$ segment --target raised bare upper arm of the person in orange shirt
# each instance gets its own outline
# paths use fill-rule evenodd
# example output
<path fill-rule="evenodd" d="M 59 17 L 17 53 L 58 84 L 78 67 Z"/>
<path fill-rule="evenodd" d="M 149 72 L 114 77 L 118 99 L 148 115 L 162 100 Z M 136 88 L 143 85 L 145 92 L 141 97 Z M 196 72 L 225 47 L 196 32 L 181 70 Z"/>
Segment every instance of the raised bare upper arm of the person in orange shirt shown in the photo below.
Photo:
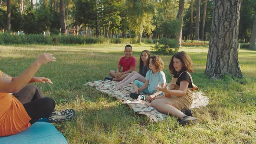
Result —
<path fill-rule="evenodd" d="M 56 61 L 56 59 L 52 54 L 43 54 L 39 56 L 25 72 L 15 79 L 11 80 L 3 76 L 0 77 L 0 92 L 19 92 L 30 82 L 41 65 L 54 61 Z"/>

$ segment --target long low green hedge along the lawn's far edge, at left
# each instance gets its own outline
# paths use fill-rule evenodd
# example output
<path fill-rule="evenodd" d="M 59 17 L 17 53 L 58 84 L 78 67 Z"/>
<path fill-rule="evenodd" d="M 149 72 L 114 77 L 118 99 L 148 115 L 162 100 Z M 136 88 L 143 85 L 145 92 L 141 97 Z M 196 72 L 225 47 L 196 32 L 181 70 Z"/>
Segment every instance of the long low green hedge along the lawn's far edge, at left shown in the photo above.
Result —
<path fill-rule="evenodd" d="M 83 36 L 83 35 L 59 35 L 58 29 L 52 29 L 52 35 L 26 34 L 11 35 L 0 33 L 0 44 L 53 44 L 53 38 L 56 38 L 59 44 L 95 44 L 95 43 L 120 43 L 135 44 L 136 38 L 105 38 L 103 36 Z M 141 39 L 142 43 L 153 43 L 152 39 Z M 168 42 L 172 43 L 172 42 Z M 173 47 L 173 45 L 171 45 Z"/>

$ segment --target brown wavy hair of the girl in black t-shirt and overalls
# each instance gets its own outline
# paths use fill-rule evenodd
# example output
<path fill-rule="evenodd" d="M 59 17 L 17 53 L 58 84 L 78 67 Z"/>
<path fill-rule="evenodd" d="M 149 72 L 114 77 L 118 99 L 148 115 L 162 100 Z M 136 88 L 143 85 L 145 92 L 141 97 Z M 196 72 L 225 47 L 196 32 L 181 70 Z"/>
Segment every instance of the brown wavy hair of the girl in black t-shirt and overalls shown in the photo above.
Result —
<path fill-rule="evenodd" d="M 183 64 L 183 68 L 179 72 L 176 72 L 176 70 L 174 69 L 174 66 L 173 66 L 173 59 L 174 58 L 180 59 L 182 64 Z M 192 62 L 190 56 L 188 56 L 186 52 L 181 51 L 181 52 L 175 53 L 172 56 L 171 62 L 169 64 L 169 69 L 170 69 L 171 75 L 178 75 L 178 74 L 181 74 L 181 72 L 184 72 L 184 71 L 193 73 L 194 70 L 193 70 L 192 66 L 193 66 L 193 62 Z"/>

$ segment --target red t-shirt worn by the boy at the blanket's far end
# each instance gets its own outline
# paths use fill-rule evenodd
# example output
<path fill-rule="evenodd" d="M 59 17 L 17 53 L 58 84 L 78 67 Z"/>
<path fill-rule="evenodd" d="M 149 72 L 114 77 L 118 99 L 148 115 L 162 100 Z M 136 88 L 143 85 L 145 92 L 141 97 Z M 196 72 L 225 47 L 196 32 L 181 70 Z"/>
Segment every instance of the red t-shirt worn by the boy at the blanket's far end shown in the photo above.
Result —
<path fill-rule="evenodd" d="M 123 71 L 128 71 L 129 69 L 131 69 L 131 67 L 134 67 L 134 71 L 135 71 L 135 67 L 136 67 L 136 59 L 131 56 L 129 59 L 125 59 L 124 57 L 121 57 L 121 59 L 119 60 L 118 65 L 121 65 L 123 67 Z"/>

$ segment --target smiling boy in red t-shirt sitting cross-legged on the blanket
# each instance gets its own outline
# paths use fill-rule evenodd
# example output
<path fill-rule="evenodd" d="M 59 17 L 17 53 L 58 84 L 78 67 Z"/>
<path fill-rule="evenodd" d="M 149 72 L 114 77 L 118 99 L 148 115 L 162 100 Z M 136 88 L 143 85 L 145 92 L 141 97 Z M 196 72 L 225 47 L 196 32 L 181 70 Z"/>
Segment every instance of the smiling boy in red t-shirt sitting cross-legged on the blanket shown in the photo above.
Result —
<path fill-rule="evenodd" d="M 118 67 L 116 71 L 111 70 L 109 75 L 112 77 L 105 77 L 104 80 L 113 80 L 113 81 L 121 81 L 125 79 L 127 75 L 129 75 L 132 71 L 135 71 L 136 67 L 136 59 L 131 56 L 132 55 L 132 47 L 131 45 L 125 46 L 125 56 L 121 57 L 118 63 Z M 121 67 L 123 70 L 121 71 Z"/>

